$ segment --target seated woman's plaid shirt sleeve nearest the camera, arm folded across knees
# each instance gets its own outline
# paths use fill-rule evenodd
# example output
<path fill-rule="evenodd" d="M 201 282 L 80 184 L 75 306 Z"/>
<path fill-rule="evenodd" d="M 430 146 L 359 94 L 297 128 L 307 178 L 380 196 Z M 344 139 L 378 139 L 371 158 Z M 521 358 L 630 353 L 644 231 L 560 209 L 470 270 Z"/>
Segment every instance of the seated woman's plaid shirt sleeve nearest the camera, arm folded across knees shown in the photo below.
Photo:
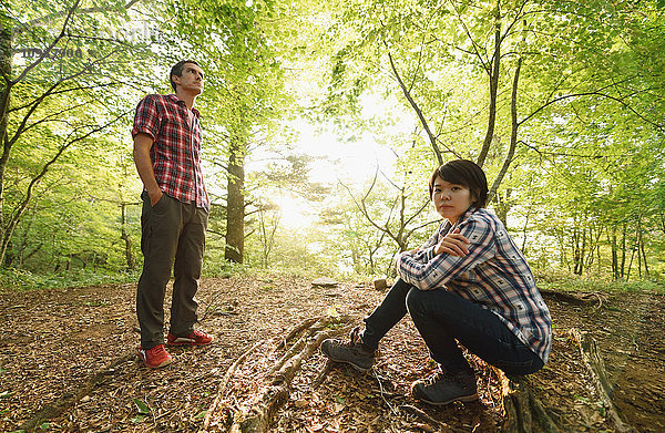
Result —
<path fill-rule="evenodd" d="M 400 278 L 420 290 L 438 289 L 460 274 L 494 257 L 494 230 L 485 220 L 470 219 L 458 227 L 460 234 L 471 243 L 468 255 L 434 255 L 436 246 L 423 249 L 418 260 L 410 254 L 401 254 L 396 260 Z"/>

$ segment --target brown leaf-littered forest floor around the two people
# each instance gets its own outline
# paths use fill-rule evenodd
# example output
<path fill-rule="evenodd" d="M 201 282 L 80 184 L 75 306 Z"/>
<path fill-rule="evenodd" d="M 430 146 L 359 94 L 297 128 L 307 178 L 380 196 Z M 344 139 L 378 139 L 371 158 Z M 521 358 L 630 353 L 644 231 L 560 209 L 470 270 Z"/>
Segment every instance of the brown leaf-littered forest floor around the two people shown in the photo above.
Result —
<path fill-rule="evenodd" d="M 295 326 L 326 315 L 351 315 L 360 323 L 383 293 L 369 283 L 313 287 L 310 280 L 289 277 L 205 279 L 200 327 L 216 339 L 205 348 L 171 349 L 175 362 L 160 370 L 146 369 L 136 357 L 134 296 L 135 285 L 0 292 L 0 431 L 20 430 L 32 420 L 37 431 L 49 432 L 196 432 L 242 354 L 246 358 L 217 409 L 245 404 L 243 399 L 256 392 L 255 375 L 265 369 L 269 348 Z M 585 303 L 545 298 L 553 350 L 529 383 L 566 431 L 613 431 L 571 330 L 589 332 L 598 342 L 624 421 L 640 432 L 665 431 L 665 298 L 647 292 L 593 297 L 596 301 Z M 482 361 L 470 360 L 479 402 L 432 408 L 413 400 L 410 383 L 434 365 L 407 318 L 382 340 L 369 374 L 335 368 L 311 386 L 325 367 L 315 352 L 272 431 L 499 431 L 504 417 L 500 381 Z M 219 426 L 222 415 L 215 416 L 211 425 Z"/>

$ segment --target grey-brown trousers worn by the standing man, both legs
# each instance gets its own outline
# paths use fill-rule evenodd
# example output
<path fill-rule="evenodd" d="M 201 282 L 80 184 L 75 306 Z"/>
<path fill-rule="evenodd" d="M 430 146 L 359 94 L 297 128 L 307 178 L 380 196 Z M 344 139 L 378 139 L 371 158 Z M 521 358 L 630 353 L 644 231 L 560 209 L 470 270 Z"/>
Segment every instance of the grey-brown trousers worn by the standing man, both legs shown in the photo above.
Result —
<path fill-rule="evenodd" d="M 143 192 L 141 198 L 144 261 L 136 291 L 136 316 L 141 326 L 141 347 L 151 349 L 164 342 L 164 296 L 171 269 L 174 269 L 171 332 L 185 337 L 194 329 L 198 307 L 194 296 L 203 266 L 207 210 L 166 194 L 154 207 L 147 193 Z"/>

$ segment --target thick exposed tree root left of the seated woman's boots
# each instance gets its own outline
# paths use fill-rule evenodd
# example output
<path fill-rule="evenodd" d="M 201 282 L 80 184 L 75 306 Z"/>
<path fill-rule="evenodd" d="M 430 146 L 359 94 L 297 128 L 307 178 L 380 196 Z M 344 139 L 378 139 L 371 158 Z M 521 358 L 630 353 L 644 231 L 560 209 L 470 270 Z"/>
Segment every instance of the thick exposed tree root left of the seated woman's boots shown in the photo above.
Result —
<path fill-rule="evenodd" d="M 228 413 L 222 414 L 222 417 L 228 421 L 223 422 L 223 424 L 227 426 L 227 432 L 267 432 L 274 414 L 286 403 L 286 401 L 288 401 L 291 381 L 300 371 L 303 363 L 314 354 L 325 339 L 348 332 L 350 329 L 349 323 L 354 318 L 350 316 L 340 318 L 321 317 L 307 319 L 296 326 L 287 334 L 287 338 L 280 340 L 275 350 L 286 349 L 289 340 L 293 340 L 298 336 L 299 338 L 268 370 L 268 374 L 264 379 L 265 384 L 252 399 L 249 408 L 244 410 L 232 410 L 228 405 L 224 406 L 222 404 L 222 400 L 226 393 L 226 384 L 233 377 L 237 367 L 244 362 L 245 358 L 247 358 L 252 351 L 263 344 L 264 341 L 255 344 L 250 351 L 245 352 L 238 358 L 226 372 L 225 379 L 215 398 L 215 402 L 208 410 L 204 425 L 200 432 L 208 432 L 212 420 L 215 417 L 219 419 L 219 412 L 225 411 L 232 412 L 231 416 Z M 318 386 L 325 379 L 327 371 L 329 371 L 329 369 L 324 369 L 324 371 L 313 381 L 311 385 Z"/>

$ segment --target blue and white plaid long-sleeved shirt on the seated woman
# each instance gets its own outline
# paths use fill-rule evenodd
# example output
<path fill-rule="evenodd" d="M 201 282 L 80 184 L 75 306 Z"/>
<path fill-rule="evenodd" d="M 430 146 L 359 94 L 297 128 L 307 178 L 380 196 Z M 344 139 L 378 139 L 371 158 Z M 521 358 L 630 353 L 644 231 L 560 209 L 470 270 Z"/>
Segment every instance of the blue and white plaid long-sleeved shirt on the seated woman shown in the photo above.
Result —
<path fill-rule="evenodd" d="M 434 255 L 439 240 L 454 227 L 471 241 L 469 254 Z M 492 311 L 548 362 L 552 348 L 550 310 L 526 259 L 494 214 L 469 208 L 454 226 L 444 221 L 420 249 L 397 257 L 397 274 L 420 290 L 450 290 Z"/>

